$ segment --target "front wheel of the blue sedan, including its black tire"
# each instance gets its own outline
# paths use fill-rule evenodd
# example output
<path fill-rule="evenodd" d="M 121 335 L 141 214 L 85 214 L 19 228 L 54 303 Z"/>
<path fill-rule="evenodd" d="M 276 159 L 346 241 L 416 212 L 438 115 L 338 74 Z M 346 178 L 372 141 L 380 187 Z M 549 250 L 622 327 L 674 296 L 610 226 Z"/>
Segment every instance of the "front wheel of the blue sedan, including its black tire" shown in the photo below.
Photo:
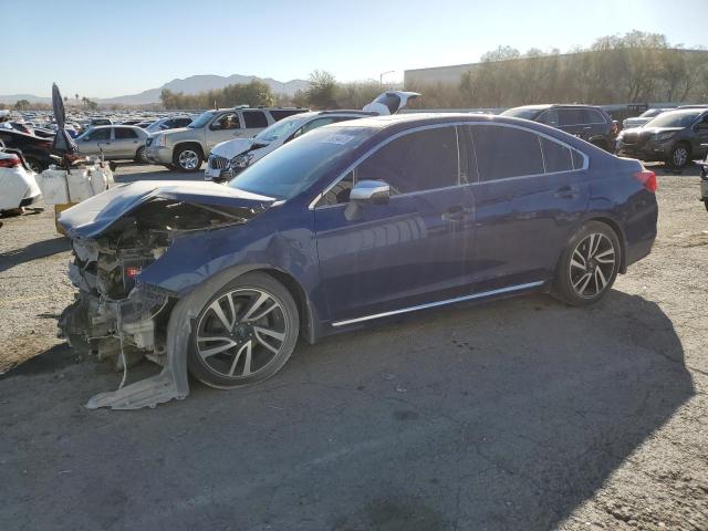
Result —
<path fill-rule="evenodd" d="M 261 296 L 267 298 L 258 305 Z M 274 309 L 268 310 L 271 303 Z M 300 315 L 288 289 L 269 274 L 246 273 L 219 289 L 192 322 L 187 366 L 210 387 L 252 385 L 283 367 L 299 333 Z"/>

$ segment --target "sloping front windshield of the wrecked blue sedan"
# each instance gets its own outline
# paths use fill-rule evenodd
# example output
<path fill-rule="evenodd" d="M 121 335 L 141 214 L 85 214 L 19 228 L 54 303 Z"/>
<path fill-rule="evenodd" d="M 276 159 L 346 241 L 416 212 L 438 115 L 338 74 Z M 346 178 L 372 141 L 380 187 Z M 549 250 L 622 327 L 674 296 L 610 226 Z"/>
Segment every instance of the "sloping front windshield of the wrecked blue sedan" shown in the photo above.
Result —
<path fill-rule="evenodd" d="M 263 157 L 229 183 L 231 188 L 290 199 L 321 178 L 378 129 L 324 126 Z"/>

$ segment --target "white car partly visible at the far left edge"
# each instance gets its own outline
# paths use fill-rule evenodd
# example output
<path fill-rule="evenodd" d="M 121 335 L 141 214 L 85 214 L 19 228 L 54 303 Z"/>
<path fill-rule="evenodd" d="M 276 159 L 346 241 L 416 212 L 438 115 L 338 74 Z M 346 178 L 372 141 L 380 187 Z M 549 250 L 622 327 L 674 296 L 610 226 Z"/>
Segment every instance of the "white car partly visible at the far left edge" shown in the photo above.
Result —
<path fill-rule="evenodd" d="M 29 207 L 41 197 L 34 173 L 22 153 L 7 150 L 0 143 L 0 212 Z"/>

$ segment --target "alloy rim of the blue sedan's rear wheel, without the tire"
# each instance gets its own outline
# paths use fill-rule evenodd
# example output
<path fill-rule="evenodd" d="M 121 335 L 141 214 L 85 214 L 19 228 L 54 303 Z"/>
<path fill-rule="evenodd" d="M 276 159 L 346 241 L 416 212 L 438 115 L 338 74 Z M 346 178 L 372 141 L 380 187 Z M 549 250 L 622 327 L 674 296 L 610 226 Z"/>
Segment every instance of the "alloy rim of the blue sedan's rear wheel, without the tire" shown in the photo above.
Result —
<path fill-rule="evenodd" d="M 612 279 L 616 264 L 614 244 L 605 235 L 593 232 L 583 238 L 571 256 L 570 281 L 583 299 L 600 295 Z"/>

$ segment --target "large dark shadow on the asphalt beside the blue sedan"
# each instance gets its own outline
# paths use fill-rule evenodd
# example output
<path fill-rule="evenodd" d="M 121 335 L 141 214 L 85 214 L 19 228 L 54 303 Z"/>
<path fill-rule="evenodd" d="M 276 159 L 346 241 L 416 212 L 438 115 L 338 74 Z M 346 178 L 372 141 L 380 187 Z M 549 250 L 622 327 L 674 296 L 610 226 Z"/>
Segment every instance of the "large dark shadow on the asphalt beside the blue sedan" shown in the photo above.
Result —
<path fill-rule="evenodd" d="M 420 312 L 157 410 L 76 413 L 118 376 L 48 354 L 66 374 L 51 393 L 46 373 L 0 382 L 7 436 L 43 464 L 6 483 L 0 524 L 4 503 L 34 529 L 554 529 L 694 395 L 671 321 L 620 291 Z"/>

